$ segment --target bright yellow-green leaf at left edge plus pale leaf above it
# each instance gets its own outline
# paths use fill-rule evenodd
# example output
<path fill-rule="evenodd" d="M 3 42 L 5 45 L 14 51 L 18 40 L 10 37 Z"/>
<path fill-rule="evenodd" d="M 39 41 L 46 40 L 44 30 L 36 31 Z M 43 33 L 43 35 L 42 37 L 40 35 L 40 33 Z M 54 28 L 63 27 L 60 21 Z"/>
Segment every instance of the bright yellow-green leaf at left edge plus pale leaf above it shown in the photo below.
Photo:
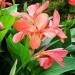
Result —
<path fill-rule="evenodd" d="M 0 35 L 1 35 L 0 42 L 3 40 L 6 33 L 11 28 L 11 26 L 13 25 L 13 23 L 15 21 L 16 17 L 10 15 L 10 13 L 14 12 L 14 11 L 17 11 L 17 5 L 0 10 L 0 22 L 2 22 L 2 24 L 4 25 L 4 30 L 0 31 Z"/>

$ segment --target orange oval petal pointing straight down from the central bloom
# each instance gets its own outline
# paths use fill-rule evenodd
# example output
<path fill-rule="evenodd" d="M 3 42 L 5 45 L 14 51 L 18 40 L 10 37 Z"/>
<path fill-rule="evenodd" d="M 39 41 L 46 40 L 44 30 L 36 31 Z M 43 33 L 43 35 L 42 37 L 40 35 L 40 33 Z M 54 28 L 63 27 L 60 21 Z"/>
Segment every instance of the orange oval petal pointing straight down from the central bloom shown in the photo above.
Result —
<path fill-rule="evenodd" d="M 30 38 L 30 47 L 34 50 L 37 49 L 41 44 L 41 40 L 37 34 L 33 34 Z"/>

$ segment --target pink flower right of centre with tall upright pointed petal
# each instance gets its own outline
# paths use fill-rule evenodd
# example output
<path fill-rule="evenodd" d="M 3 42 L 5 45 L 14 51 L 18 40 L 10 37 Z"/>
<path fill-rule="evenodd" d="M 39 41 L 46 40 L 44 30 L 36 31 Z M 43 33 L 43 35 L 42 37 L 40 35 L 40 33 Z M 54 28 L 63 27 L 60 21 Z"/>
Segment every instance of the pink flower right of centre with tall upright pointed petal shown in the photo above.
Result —
<path fill-rule="evenodd" d="M 67 36 L 59 27 L 60 27 L 60 15 L 58 11 L 55 10 L 53 14 L 53 20 L 50 20 L 49 28 L 45 30 L 46 32 L 44 32 L 44 35 L 49 37 L 58 36 L 61 42 L 64 43 L 64 39 L 67 38 Z"/>

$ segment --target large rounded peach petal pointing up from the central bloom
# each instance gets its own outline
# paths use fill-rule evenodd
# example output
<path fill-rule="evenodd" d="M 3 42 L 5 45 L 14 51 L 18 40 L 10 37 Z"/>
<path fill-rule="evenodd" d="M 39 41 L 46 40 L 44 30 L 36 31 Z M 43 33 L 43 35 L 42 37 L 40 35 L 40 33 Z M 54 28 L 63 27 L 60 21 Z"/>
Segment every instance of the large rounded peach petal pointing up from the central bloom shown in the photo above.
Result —
<path fill-rule="evenodd" d="M 48 21 L 49 21 L 49 16 L 45 13 L 42 13 L 36 17 L 35 25 L 39 30 L 44 29 L 47 26 Z"/>

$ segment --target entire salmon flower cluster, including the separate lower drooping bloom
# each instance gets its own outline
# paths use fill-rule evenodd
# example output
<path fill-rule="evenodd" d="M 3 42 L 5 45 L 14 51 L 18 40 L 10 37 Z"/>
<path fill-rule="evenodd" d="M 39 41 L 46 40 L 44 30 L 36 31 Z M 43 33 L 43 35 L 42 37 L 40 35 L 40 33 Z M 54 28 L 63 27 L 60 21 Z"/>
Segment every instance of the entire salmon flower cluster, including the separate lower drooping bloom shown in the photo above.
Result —
<path fill-rule="evenodd" d="M 12 13 L 12 15 L 20 17 L 20 19 L 14 23 L 14 28 L 19 31 L 13 37 L 14 43 L 21 41 L 25 35 L 29 37 L 30 47 L 33 51 L 39 48 L 41 41 L 46 40 L 47 38 L 58 36 L 61 42 L 64 43 L 64 39 L 67 38 L 67 36 L 60 27 L 60 15 L 58 11 L 54 11 L 52 20 L 49 19 L 49 15 L 47 13 L 42 13 L 48 5 L 49 1 L 46 1 L 41 6 L 39 3 L 36 3 L 28 7 L 28 13 Z M 52 65 L 53 59 L 63 66 L 62 57 L 66 55 L 66 50 L 56 48 L 47 51 L 42 50 L 35 54 L 34 58 L 39 60 L 41 67 L 47 69 Z"/>

